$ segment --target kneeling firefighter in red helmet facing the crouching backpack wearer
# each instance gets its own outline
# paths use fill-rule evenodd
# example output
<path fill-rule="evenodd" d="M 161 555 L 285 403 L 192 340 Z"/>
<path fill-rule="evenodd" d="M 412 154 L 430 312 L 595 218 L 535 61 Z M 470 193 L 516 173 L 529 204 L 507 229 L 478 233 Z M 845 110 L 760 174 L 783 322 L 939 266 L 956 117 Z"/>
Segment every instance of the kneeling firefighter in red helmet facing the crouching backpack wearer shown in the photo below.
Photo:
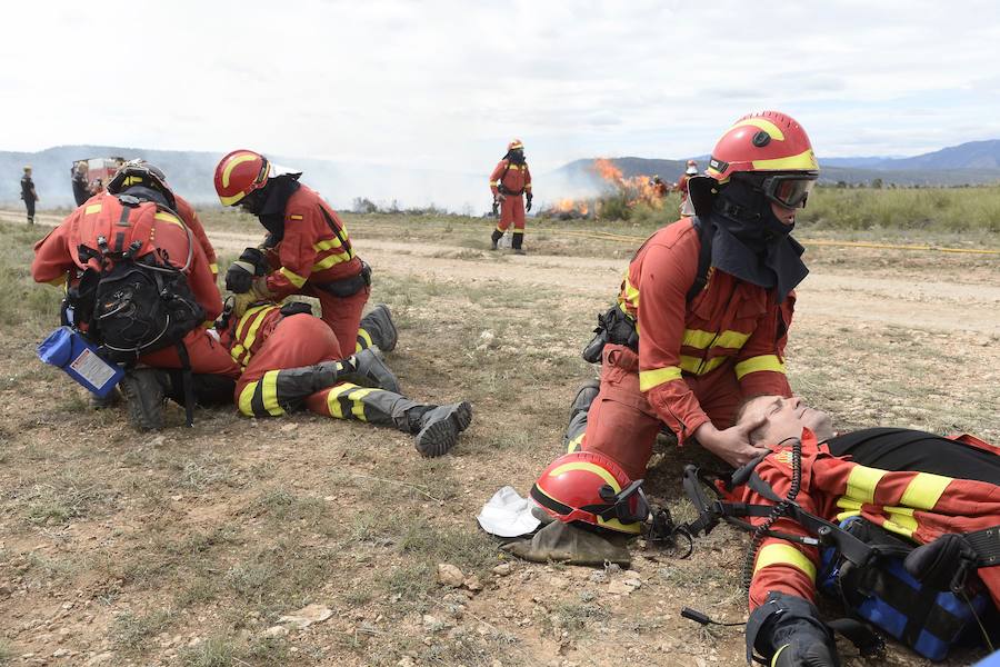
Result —
<path fill-rule="evenodd" d="M 340 348 L 350 350 L 371 292 L 371 269 L 338 215 L 299 182 L 301 176 L 251 150 L 219 161 L 214 182 L 222 206 L 241 207 L 268 231 L 260 247 L 247 248 L 229 267 L 226 289 L 236 295 L 238 317 L 253 301 L 316 297 Z"/>

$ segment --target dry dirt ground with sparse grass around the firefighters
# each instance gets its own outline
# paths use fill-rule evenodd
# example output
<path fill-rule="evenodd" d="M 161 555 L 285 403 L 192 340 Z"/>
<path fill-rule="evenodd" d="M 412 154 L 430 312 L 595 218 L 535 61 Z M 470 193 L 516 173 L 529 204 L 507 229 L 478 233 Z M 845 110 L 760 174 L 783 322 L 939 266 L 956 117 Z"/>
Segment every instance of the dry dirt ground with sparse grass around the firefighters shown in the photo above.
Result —
<path fill-rule="evenodd" d="M 594 377 L 579 350 L 628 240 L 529 230 L 518 257 L 486 249 L 486 220 L 348 219 L 371 302 L 398 320 L 387 360 L 404 391 L 474 406 L 456 449 L 422 459 L 403 434 L 308 414 L 207 410 L 188 430 L 171 407 L 169 428 L 140 435 L 121 408 L 91 410 L 34 358 L 58 296 L 26 277 L 44 229 L 20 220 L 0 213 L 0 665 L 743 664 L 742 628 L 679 616 L 746 618 L 743 535 L 719 528 L 687 560 L 639 542 L 613 571 L 510 560 L 474 519 L 559 454 L 569 402 Z M 258 240 L 244 219 L 206 223 L 223 266 Z M 797 392 L 843 429 L 1000 441 L 1000 258 L 806 246 Z M 706 460 L 664 445 L 648 476 L 681 517 L 692 458 Z M 441 563 L 466 585 L 438 584 Z M 332 614 L 279 623 L 307 605 Z M 842 650 L 848 665 L 924 664 L 899 647 L 877 661 Z"/>

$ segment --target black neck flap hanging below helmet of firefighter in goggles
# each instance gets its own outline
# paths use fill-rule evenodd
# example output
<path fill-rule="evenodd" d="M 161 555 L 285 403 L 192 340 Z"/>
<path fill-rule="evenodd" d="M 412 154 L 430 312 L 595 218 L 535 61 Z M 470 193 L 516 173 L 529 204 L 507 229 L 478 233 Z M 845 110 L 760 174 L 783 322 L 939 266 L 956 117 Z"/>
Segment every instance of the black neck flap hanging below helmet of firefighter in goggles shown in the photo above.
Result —
<path fill-rule="evenodd" d="M 800 259 L 804 248 L 771 210 L 751 180 L 733 176 L 712 201 L 712 266 L 741 280 L 776 290 L 780 303 L 809 273 Z"/>

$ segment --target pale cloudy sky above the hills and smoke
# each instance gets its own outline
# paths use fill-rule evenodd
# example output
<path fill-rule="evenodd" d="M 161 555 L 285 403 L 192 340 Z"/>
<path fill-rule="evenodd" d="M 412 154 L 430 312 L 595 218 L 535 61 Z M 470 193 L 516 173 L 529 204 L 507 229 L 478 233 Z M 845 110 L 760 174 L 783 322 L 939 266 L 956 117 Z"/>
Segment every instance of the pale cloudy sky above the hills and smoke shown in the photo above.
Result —
<path fill-rule="evenodd" d="M 4 7 L 0 150 L 67 143 L 536 171 L 708 152 L 742 113 L 821 157 L 1000 138 L 983 1 L 61 2 Z"/>

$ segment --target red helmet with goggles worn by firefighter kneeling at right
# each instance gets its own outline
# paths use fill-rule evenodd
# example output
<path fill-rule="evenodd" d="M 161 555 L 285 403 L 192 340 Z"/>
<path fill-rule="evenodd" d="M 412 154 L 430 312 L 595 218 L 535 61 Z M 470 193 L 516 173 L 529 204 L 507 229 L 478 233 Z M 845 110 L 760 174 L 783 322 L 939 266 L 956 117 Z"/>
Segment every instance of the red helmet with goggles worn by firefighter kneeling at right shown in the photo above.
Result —
<path fill-rule="evenodd" d="M 796 119 L 761 111 L 744 116 L 722 135 L 706 172 L 722 183 L 733 173 L 764 172 L 760 187 L 768 199 L 799 208 L 819 178 L 819 162 Z"/>

